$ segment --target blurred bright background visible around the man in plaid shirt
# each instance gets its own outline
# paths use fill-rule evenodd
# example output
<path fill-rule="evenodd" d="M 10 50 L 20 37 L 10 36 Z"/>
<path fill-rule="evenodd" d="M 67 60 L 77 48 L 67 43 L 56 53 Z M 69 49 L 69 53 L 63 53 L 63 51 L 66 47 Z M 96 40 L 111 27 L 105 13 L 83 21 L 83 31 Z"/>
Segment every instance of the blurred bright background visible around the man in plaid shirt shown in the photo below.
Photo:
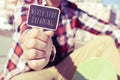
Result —
<path fill-rule="evenodd" d="M 75 2 L 79 8 L 100 18 L 106 22 L 118 25 L 120 28 L 120 0 L 70 0 Z M 0 72 L 6 62 L 6 57 L 11 47 L 13 27 L 13 10 L 15 0 L 0 0 Z M 76 44 L 80 40 L 83 44 L 94 38 L 86 31 L 78 30 L 76 32 Z M 82 43 L 80 43 L 83 45 Z M 78 47 L 78 46 L 76 46 Z"/>

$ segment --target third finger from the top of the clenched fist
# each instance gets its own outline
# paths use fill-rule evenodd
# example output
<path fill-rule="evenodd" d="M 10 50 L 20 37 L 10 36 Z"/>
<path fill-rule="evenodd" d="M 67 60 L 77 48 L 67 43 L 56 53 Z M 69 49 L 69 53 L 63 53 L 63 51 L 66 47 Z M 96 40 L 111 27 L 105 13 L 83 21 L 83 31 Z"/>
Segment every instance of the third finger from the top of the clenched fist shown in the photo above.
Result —
<path fill-rule="evenodd" d="M 45 51 L 39 51 L 36 49 L 25 50 L 22 56 L 25 60 L 33 60 L 33 59 L 42 59 L 46 58 Z"/>

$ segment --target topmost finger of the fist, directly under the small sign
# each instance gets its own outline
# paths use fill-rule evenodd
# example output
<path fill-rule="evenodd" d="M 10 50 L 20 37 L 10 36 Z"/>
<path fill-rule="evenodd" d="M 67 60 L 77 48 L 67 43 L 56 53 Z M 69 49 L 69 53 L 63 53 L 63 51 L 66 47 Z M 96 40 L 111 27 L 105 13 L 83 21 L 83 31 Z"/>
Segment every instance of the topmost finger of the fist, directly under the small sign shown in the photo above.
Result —
<path fill-rule="evenodd" d="M 29 32 L 24 32 L 21 37 L 20 37 L 20 43 L 23 43 L 25 39 L 29 40 L 30 38 L 36 38 L 39 40 L 42 40 L 44 42 L 47 42 L 49 37 L 52 37 L 54 35 L 53 31 L 45 31 L 38 29 L 38 28 L 33 28 L 30 29 Z"/>

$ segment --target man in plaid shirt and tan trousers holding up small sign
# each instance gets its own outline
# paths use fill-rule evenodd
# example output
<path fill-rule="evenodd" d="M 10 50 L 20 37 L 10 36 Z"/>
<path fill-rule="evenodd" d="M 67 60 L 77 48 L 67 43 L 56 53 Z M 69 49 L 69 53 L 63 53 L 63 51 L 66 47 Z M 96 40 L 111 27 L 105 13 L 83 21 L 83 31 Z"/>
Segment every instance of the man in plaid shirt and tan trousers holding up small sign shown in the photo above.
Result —
<path fill-rule="evenodd" d="M 26 24 L 29 6 L 33 3 L 58 7 L 61 10 L 58 29 L 55 32 L 31 28 Z M 36 80 L 70 80 L 78 64 L 96 56 L 104 57 L 110 61 L 117 70 L 117 74 L 120 75 L 120 65 L 118 64 L 120 61 L 118 52 L 120 48 L 120 36 L 118 33 L 120 33 L 120 30 L 117 26 L 89 15 L 78 9 L 74 3 L 66 0 L 18 0 L 14 16 L 16 27 L 14 37 L 17 36 L 17 39 L 14 38 L 15 44 L 13 49 L 10 50 L 8 63 L 1 75 L 1 79 L 9 80 L 13 77 L 13 80 L 18 78 L 19 80 L 20 78 L 21 80 L 32 80 L 32 78 L 36 78 Z M 90 25 L 91 20 L 95 23 L 94 25 Z M 83 29 L 95 35 L 110 35 L 115 40 L 118 49 L 114 45 L 112 38 L 105 36 L 97 38 L 77 50 L 77 52 L 73 52 L 75 45 L 69 44 L 68 41 L 75 38 L 75 29 Z M 53 45 L 56 48 L 56 56 L 53 54 L 55 53 Z M 48 66 L 52 67 L 45 68 Z M 45 69 L 40 71 L 43 68 Z M 70 70 L 69 75 L 67 74 L 68 70 Z M 29 73 L 28 71 L 36 72 Z M 24 74 L 24 72 L 28 73 Z M 15 76 L 19 73 L 21 75 Z M 48 74 L 51 74 L 51 77 Z"/>

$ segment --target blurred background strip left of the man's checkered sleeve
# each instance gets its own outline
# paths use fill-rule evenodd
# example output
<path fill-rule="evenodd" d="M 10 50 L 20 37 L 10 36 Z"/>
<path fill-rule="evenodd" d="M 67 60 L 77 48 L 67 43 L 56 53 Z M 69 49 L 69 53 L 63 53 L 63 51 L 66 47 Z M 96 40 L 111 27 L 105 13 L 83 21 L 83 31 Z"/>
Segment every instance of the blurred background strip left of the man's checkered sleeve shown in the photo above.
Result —
<path fill-rule="evenodd" d="M 11 47 L 15 0 L 0 0 L 0 72 Z"/>

